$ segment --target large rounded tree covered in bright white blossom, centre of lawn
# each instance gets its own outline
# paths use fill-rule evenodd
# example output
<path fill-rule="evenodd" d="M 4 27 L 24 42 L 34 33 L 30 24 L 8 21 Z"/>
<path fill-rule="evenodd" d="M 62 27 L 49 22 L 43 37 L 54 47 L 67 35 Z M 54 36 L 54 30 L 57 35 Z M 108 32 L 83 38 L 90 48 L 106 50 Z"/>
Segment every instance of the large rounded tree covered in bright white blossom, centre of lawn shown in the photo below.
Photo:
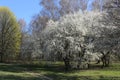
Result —
<path fill-rule="evenodd" d="M 61 58 L 66 69 L 72 67 L 74 61 L 79 68 L 86 49 L 93 48 L 94 38 L 106 27 L 102 21 L 103 13 L 99 12 L 77 12 L 56 22 L 50 20 L 41 33 L 41 50 L 47 59 Z"/>

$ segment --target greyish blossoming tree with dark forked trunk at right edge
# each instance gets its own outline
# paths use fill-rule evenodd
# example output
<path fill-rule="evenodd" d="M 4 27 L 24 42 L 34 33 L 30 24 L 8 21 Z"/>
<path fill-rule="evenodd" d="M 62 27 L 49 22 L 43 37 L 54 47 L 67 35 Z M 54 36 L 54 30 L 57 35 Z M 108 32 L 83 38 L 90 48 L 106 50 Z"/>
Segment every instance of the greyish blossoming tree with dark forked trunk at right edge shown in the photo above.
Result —
<path fill-rule="evenodd" d="M 106 26 L 102 28 L 101 36 L 95 39 L 94 48 L 103 54 L 103 66 L 109 66 L 111 54 L 120 56 L 120 0 L 106 0 L 104 10 L 108 13 L 104 17 Z"/>

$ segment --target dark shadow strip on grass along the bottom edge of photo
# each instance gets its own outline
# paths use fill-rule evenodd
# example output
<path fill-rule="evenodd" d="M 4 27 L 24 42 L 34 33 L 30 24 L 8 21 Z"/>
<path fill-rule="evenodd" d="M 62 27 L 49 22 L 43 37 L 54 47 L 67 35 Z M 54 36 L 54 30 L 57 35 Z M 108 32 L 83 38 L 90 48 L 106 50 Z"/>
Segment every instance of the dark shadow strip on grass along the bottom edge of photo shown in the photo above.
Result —
<path fill-rule="evenodd" d="M 104 77 L 100 76 L 99 78 L 90 77 L 90 76 L 65 76 L 60 74 L 46 74 L 39 77 L 20 77 L 14 75 L 0 75 L 0 80 L 120 80 L 120 77 Z"/>

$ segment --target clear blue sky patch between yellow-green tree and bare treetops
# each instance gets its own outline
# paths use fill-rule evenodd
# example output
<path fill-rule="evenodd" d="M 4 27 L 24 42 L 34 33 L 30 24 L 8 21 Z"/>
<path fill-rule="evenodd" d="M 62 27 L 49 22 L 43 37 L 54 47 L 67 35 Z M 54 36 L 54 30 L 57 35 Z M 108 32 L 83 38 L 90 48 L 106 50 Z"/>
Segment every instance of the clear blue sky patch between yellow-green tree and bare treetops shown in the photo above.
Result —
<path fill-rule="evenodd" d="M 24 19 L 28 24 L 33 15 L 39 13 L 40 0 L 0 0 L 0 6 L 7 6 L 17 19 Z"/>

